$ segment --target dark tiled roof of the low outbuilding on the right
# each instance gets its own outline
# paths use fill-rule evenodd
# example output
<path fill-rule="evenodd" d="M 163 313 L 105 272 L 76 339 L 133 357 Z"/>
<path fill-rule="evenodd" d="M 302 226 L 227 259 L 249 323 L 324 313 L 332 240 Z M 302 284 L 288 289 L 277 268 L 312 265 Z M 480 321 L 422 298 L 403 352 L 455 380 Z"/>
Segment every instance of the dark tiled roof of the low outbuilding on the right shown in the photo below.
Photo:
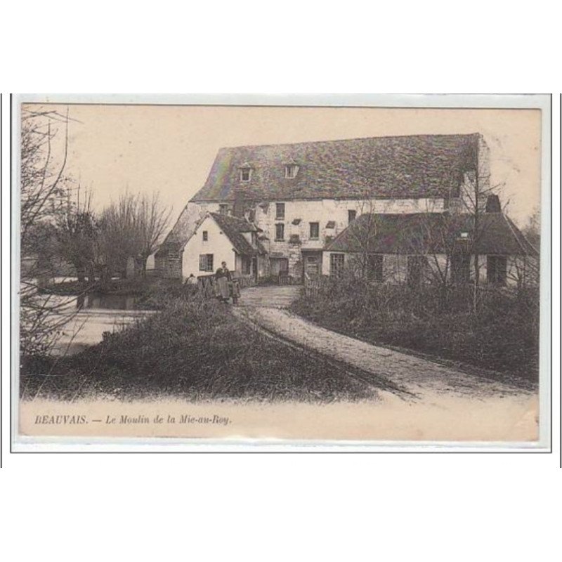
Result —
<path fill-rule="evenodd" d="M 479 254 L 538 255 L 504 214 L 481 214 L 478 221 L 475 236 L 474 217 L 469 214 L 364 214 L 325 249 L 374 254 L 473 253 L 476 249 Z"/>

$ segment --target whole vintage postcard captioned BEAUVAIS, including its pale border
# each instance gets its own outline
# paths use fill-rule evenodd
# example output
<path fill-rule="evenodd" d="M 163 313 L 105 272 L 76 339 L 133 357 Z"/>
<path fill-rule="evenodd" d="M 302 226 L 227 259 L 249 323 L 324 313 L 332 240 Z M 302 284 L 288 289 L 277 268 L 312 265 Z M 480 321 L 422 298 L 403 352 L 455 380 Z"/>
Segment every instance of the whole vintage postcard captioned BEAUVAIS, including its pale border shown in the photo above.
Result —
<path fill-rule="evenodd" d="M 15 447 L 548 447 L 548 96 L 13 103 Z"/>

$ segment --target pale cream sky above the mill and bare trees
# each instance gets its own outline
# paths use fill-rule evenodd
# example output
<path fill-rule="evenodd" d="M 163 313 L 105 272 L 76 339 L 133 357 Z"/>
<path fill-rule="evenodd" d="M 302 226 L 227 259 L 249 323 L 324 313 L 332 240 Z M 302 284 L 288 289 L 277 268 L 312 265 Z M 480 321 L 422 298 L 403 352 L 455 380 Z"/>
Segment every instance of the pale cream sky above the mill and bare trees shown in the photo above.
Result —
<path fill-rule="evenodd" d="M 523 226 L 540 204 L 540 110 L 189 105 L 35 105 L 65 113 L 66 172 L 102 209 L 125 190 L 152 194 L 173 221 L 219 148 L 368 136 L 482 133 L 493 185 Z M 59 140 L 63 131 L 59 131 Z M 62 149 L 62 143 L 55 147 Z"/>

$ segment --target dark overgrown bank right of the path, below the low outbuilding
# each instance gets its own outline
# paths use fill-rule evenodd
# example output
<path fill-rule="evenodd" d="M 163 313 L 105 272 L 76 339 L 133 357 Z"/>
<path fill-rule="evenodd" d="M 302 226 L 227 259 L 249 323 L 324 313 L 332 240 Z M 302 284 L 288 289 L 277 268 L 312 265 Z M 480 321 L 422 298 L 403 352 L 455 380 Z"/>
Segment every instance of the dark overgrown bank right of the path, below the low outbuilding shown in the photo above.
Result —
<path fill-rule="evenodd" d="M 472 289 L 390 286 L 326 280 L 292 310 L 313 322 L 373 344 L 386 344 L 538 378 L 539 299 L 536 289 L 483 290 L 478 314 Z"/>

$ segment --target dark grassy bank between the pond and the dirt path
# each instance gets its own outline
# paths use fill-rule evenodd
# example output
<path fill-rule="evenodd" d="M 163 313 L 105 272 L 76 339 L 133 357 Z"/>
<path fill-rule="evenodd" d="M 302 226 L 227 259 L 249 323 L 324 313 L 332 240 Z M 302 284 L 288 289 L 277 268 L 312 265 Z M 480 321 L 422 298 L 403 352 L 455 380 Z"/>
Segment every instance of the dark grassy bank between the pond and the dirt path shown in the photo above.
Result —
<path fill-rule="evenodd" d="M 71 357 L 24 358 L 23 399 L 374 398 L 331 362 L 273 341 L 214 300 L 166 297 L 162 311 Z M 47 376 L 46 376 L 47 375 Z"/>

